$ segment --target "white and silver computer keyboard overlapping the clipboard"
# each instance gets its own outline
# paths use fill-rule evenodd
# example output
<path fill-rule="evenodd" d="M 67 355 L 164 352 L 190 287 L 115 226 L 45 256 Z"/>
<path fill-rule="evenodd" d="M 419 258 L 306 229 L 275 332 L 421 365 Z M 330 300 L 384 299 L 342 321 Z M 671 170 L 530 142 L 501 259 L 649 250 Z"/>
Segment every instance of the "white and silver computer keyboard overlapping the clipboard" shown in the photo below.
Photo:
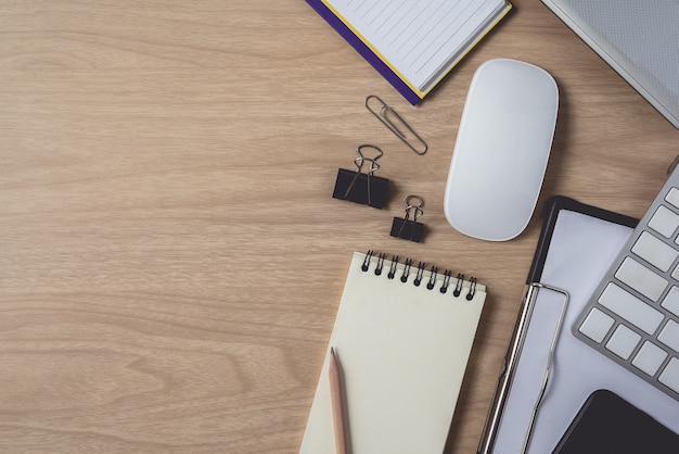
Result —
<path fill-rule="evenodd" d="M 679 401 L 679 167 L 631 234 L 573 332 Z"/>

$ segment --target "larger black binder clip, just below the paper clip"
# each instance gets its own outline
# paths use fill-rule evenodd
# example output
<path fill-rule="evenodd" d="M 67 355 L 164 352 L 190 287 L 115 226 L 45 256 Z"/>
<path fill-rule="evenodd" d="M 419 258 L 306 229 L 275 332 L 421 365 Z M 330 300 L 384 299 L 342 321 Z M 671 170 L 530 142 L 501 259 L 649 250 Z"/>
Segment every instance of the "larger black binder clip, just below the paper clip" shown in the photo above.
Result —
<path fill-rule="evenodd" d="M 374 157 L 363 156 L 362 150 L 372 148 L 377 152 Z M 387 178 L 374 176 L 375 171 L 380 168 L 377 160 L 382 156 L 382 150 L 375 146 L 362 144 L 356 149 L 358 157 L 354 159 L 356 172 L 346 168 L 337 169 L 337 180 L 332 197 L 340 200 L 348 200 L 360 203 L 362 205 L 382 209 L 387 202 L 387 187 L 389 180 Z M 370 162 L 367 174 L 361 173 L 363 163 Z"/>

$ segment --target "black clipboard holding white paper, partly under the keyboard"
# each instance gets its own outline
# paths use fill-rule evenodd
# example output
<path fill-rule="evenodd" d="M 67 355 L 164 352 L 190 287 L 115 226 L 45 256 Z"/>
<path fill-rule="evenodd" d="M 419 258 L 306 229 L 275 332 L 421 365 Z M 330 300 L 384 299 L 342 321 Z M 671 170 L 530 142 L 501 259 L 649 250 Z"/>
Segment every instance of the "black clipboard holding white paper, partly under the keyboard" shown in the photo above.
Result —
<path fill-rule="evenodd" d="M 679 433 L 679 403 L 577 340 L 571 327 L 638 219 L 550 199 L 478 454 L 549 453 L 608 389 Z"/>

